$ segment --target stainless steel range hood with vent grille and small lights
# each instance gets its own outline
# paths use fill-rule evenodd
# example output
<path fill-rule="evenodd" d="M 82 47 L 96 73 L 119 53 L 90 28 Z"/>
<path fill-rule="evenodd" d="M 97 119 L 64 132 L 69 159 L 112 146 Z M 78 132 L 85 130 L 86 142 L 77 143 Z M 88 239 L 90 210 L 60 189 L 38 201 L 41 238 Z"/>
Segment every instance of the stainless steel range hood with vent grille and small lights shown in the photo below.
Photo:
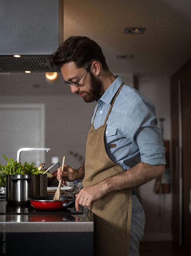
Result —
<path fill-rule="evenodd" d="M 63 11 L 63 0 L 0 0 L 0 72 L 59 72 L 50 63 Z"/>

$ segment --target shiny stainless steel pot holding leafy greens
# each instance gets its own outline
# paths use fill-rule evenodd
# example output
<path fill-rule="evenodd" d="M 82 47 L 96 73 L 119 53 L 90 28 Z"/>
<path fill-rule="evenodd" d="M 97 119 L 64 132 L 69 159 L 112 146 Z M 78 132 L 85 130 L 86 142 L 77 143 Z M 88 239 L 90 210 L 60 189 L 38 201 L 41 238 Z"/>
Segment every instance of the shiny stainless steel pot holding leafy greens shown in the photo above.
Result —
<path fill-rule="evenodd" d="M 30 197 L 47 195 L 47 174 L 6 174 L 6 201 L 29 203 Z"/>

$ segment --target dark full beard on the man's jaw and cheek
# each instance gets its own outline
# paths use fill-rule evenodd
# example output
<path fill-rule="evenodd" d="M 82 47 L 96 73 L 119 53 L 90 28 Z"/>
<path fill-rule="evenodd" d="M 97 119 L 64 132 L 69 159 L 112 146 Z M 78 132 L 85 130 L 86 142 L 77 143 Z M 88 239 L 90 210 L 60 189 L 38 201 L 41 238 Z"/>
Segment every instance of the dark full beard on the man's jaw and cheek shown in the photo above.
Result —
<path fill-rule="evenodd" d="M 102 81 L 99 78 L 93 75 L 91 71 L 89 71 L 90 77 L 90 89 L 89 91 L 84 91 L 83 100 L 87 103 L 94 102 L 99 99 L 100 92 L 102 89 Z"/>

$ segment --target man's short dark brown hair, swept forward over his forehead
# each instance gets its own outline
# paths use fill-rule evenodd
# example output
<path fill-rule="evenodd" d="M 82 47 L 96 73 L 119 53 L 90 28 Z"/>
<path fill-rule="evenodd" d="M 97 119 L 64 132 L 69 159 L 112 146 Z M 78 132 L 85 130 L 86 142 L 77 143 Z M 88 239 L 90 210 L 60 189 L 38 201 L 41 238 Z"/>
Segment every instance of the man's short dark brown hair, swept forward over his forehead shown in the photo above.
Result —
<path fill-rule="evenodd" d="M 71 61 L 78 68 L 87 68 L 93 60 L 100 61 L 104 71 L 109 70 L 101 47 L 86 36 L 71 36 L 52 53 L 52 65 L 58 69 Z"/>

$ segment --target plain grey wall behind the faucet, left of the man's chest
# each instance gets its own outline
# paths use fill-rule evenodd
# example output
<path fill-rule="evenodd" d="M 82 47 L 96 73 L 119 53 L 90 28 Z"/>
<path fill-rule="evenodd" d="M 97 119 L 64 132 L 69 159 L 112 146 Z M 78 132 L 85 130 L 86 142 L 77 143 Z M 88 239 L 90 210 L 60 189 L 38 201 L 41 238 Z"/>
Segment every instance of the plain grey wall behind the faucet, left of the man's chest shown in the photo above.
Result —
<path fill-rule="evenodd" d="M 95 104 L 86 104 L 77 95 L 62 96 L 0 96 L 1 103 L 44 103 L 46 112 L 45 146 L 51 151 L 45 154 L 45 167 L 52 165 L 51 158 L 66 156 L 65 163 L 77 168 L 81 165 L 78 156 L 85 158 L 87 131 Z M 26 145 L 30 147 L 30 145 Z M 17 152 L 15 152 L 16 159 Z M 22 159 L 21 161 L 24 161 Z"/>

